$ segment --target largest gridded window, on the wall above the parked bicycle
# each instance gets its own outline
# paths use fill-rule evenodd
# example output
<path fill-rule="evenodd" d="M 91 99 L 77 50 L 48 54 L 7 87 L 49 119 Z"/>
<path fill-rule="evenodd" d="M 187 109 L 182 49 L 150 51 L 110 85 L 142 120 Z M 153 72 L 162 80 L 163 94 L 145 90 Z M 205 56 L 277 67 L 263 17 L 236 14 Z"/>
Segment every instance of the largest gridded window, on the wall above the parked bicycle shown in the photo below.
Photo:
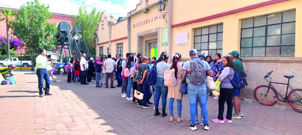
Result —
<path fill-rule="evenodd" d="M 294 57 L 296 10 L 242 20 L 241 57 Z"/>

